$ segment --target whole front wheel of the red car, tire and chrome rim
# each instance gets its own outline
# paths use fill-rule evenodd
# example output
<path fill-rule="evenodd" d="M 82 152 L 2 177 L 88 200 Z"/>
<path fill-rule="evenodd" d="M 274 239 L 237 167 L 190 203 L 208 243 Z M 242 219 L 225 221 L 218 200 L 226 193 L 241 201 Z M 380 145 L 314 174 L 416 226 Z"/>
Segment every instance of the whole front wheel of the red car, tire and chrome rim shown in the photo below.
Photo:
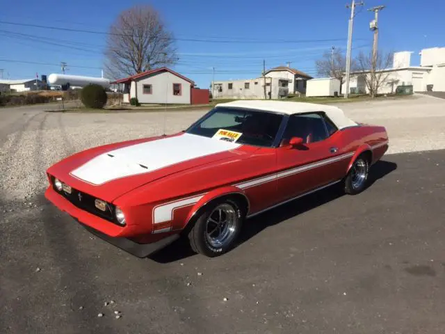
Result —
<path fill-rule="evenodd" d="M 243 212 L 235 201 L 213 202 L 204 208 L 188 234 L 191 248 L 208 257 L 223 255 L 234 246 L 242 223 Z"/>

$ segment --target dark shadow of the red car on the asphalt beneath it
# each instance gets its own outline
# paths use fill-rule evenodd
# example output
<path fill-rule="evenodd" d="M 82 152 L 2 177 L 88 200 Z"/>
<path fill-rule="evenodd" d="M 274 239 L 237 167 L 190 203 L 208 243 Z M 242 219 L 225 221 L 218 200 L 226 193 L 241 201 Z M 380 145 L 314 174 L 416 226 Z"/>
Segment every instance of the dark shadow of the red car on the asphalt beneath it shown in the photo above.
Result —
<path fill-rule="evenodd" d="M 369 178 L 367 187 L 372 186 L 377 180 L 380 180 L 385 175 L 388 175 L 393 170 L 396 170 L 397 164 L 389 161 L 378 161 L 376 162 L 371 170 L 369 171 Z M 321 205 L 336 200 L 341 196 L 344 196 L 341 183 L 334 184 L 315 193 L 309 194 L 302 198 L 292 200 L 284 205 L 280 205 L 270 211 L 264 212 L 264 214 L 259 214 L 253 218 L 245 221 L 243 225 L 243 230 L 238 237 L 238 245 L 243 244 L 250 238 L 254 237 L 256 234 L 265 230 L 266 228 L 286 221 L 289 218 L 303 214 L 311 209 L 320 207 Z M 184 259 L 195 255 L 193 250 L 191 250 L 188 245 L 187 238 L 180 238 L 173 242 L 169 246 L 159 250 L 159 252 L 154 253 L 149 256 L 151 260 L 160 263 L 175 262 L 177 260 Z"/>

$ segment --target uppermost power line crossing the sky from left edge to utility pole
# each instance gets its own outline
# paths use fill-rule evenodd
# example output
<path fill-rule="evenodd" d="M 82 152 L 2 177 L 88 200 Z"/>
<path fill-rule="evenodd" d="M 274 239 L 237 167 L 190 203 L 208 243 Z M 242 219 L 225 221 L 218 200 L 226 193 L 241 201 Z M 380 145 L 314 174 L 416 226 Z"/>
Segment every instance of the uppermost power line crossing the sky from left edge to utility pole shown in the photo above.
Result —
<path fill-rule="evenodd" d="M 18 22 L 8 22 L 8 21 L 0 21 L 1 24 L 10 24 L 13 26 L 29 26 L 32 28 L 40 28 L 40 29 L 51 29 L 51 30 L 59 30 L 59 31 L 70 31 L 76 33 L 94 33 L 97 35 L 121 35 L 125 36 L 127 34 L 122 33 L 107 33 L 104 31 L 92 31 L 86 29 L 71 29 L 71 28 L 63 28 L 60 26 L 44 26 L 41 24 L 27 24 L 27 23 L 18 23 Z M 167 39 L 167 38 L 160 38 Z M 170 38 L 168 38 L 170 39 Z M 208 42 L 208 43 L 252 43 L 252 44 L 280 44 L 280 43 L 309 43 L 309 42 L 334 42 L 341 41 L 343 38 L 331 38 L 331 39 L 321 39 L 321 40 L 210 40 L 210 39 L 199 39 L 199 38 L 172 38 L 172 40 L 180 40 L 185 42 Z"/>

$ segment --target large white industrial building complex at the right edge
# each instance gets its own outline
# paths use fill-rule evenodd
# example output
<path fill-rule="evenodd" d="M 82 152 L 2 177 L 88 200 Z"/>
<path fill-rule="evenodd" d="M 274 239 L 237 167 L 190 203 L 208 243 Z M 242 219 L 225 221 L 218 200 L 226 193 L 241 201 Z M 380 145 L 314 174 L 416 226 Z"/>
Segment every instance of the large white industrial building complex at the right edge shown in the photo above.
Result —
<path fill-rule="evenodd" d="M 414 92 L 425 92 L 432 85 L 434 91 L 445 91 L 445 47 L 433 47 L 421 51 L 421 66 L 410 66 L 410 51 L 394 53 L 393 67 L 380 70 L 386 77 L 378 89 L 379 94 L 395 93 L 397 86 L 412 85 Z M 349 88 L 352 93 L 369 93 L 366 87 L 366 73 L 353 73 Z M 346 90 L 343 82 L 342 92 Z"/>

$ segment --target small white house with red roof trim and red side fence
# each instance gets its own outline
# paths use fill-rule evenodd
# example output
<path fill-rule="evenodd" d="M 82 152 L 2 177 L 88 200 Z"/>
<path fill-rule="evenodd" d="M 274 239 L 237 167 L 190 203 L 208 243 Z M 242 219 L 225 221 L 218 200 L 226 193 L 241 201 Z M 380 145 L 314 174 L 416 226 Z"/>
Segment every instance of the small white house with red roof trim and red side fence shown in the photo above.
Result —
<path fill-rule="evenodd" d="M 207 104 L 209 90 L 195 89 L 195 83 L 181 74 L 161 67 L 120 79 L 124 84 L 124 103 L 136 97 L 141 104 Z"/>

